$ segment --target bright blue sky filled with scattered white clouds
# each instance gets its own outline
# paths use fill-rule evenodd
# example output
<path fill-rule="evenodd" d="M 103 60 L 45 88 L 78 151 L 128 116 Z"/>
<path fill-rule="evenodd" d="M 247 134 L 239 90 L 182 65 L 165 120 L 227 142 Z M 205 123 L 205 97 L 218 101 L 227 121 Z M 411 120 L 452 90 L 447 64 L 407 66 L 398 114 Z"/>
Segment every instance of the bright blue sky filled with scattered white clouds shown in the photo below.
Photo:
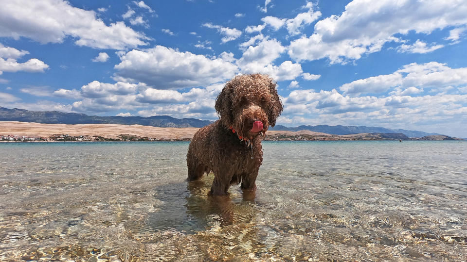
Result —
<path fill-rule="evenodd" d="M 277 123 L 467 137 L 467 2 L 0 0 L 0 106 L 215 120 L 278 82 Z"/>

